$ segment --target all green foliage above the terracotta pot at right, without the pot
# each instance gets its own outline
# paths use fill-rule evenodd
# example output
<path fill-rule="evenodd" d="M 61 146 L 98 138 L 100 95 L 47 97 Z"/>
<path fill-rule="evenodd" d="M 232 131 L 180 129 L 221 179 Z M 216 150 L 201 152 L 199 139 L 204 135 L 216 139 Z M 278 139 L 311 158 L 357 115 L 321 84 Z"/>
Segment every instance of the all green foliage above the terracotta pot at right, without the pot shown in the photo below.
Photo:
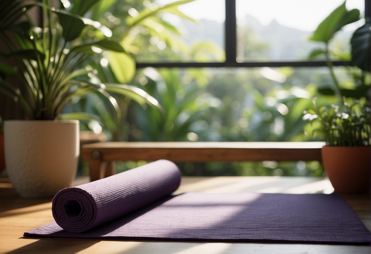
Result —
<path fill-rule="evenodd" d="M 304 119 L 309 119 L 315 126 L 315 132 L 324 136 L 329 146 L 369 146 L 370 145 L 370 17 L 365 17 L 365 24 L 359 27 L 351 38 L 351 60 L 356 72 L 352 72 L 354 89 L 341 87 L 332 66 L 332 57 L 336 54 L 329 43 L 334 35 L 345 25 L 358 21 L 360 12 L 357 9 L 348 11 L 346 1 L 336 8 L 313 33 L 311 40 L 321 41 L 324 49 L 314 50 L 311 57 L 325 55 L 333 81 L 333 88 L 319 89 L 328 95 L 336 95 L 338 103 L 331 106 L 318 107 L 313 100 L 313 108 L 305 111 Z M 344 58 L 343 60 L 349 60 Z"/>

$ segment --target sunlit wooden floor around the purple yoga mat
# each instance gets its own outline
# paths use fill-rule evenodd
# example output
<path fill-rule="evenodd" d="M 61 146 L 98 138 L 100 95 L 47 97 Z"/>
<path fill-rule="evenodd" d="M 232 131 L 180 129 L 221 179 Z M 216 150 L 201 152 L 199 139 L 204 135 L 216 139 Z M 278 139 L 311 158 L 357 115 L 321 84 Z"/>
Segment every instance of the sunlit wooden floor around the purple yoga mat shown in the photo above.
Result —
<path fill-rule="evenodd" d="M 75 184 L 88 181 L 79 179 Z M 231 193 L 256 191 L 264 193 L 331 193 L 325 178 L 315 177 L 183 177 L 176 193 L 204 191 Z M 371 229 L 370 194 L 342 195 Z M 370 246 L 207 243 L 175 241 L 124 241 L 66 238 L 29 238 L 23 232 L 53 221 L 51 198 L 25 199 L 15 193 L 9 181 L 0 180 L 0 253 L 306 253 L 369 254 Z"/>

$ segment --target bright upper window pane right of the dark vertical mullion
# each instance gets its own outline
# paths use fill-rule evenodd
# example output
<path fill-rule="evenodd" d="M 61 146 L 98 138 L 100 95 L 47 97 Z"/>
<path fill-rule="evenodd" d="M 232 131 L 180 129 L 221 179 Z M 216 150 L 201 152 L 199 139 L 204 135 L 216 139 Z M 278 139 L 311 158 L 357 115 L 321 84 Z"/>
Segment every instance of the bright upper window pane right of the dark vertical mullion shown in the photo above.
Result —
<path fill-rule="evenodd" d="M 308 61 L 320 42 L 308 38 L 343 0 L 236 0 L 237 61 Z M 364 13 L 364 0 L 347 1 L 347 9 Z M 349 24 L 332 41 L 349 51 L 352 32 L 362 22 Z"/>

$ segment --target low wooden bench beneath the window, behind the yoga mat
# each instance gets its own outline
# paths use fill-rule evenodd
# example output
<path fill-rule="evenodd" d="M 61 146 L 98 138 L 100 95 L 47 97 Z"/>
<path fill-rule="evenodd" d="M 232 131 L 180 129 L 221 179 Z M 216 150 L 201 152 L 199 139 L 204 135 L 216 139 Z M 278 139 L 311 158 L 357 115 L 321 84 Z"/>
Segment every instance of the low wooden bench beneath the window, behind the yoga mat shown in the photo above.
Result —
<path fill-rule="evenodd" d="M 95 181 L 115 173 L 114 161 L 321 161 L 323 142 L 101 142 L 82 146 Z"/>

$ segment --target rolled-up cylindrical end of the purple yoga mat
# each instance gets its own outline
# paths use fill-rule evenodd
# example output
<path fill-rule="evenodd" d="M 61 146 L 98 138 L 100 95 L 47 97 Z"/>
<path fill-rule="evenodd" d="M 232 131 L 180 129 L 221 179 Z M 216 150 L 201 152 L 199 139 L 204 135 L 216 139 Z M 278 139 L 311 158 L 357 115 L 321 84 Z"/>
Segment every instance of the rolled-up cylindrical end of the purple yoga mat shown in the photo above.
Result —
<path fill-rule="evenodd" d="M 65 188 L 53 198 L 53 217 L 61 228 L 81 233 L 171 194 L 179 187 L 180 177 L 173 162 L 159 160 Z"/>

